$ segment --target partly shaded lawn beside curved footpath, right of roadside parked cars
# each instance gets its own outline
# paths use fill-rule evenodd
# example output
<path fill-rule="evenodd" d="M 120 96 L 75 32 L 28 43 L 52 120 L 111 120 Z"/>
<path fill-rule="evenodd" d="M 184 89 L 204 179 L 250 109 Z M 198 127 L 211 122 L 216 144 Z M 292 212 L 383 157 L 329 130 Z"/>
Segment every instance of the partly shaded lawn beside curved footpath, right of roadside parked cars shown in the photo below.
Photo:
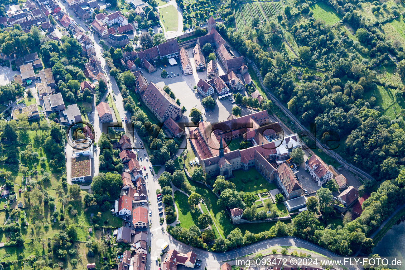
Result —
<path fill-rule="evenodd" d="M 190 228 L 192 225 L 198 225 L 198 217 L 201 215 L 198 207 L 190 208 L 188 197 L 180 191 L 175 192 L 174 198 L 181 227 Z"/>

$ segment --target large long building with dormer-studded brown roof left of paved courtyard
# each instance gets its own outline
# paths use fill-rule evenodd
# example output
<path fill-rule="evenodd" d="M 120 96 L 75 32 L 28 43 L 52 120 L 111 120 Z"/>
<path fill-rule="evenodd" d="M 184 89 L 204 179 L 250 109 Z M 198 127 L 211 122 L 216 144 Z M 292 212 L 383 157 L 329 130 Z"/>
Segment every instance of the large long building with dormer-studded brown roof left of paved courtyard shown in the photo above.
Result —
<path fill-rule="evenodd" d="M 160 122 L 169 117 L 177 120 L 181 116 L 180 106 L 160 86 L 150 82 L 148 87 L 141 89 L 139 93 L 143 103 Z"/>

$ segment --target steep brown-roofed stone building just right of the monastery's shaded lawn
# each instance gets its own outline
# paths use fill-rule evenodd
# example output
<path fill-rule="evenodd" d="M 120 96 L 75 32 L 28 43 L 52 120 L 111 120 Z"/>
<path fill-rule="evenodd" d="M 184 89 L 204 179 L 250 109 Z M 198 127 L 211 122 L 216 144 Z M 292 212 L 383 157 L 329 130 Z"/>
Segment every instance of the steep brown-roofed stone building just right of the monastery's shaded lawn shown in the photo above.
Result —
<path fill-rule="evenodd" d="M 304 190 L 298 183 L 294 172 L 286 163 L 281 163 L 275 172 L 276 183 L 287 200 L 302 196 Z"/>

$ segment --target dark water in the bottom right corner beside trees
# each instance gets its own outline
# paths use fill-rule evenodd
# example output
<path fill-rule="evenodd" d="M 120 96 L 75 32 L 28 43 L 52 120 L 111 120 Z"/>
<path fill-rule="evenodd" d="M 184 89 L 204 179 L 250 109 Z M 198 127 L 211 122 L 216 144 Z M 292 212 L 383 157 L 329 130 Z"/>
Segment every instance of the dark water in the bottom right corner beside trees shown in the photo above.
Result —
<path fill-rule="evenodd" d="M 405 270 L 405 221 L 392 226 L 374 247 L 373 254 L 398 257 L 402 261 L 402 266 L 397 266 L 397 269 Z"/>

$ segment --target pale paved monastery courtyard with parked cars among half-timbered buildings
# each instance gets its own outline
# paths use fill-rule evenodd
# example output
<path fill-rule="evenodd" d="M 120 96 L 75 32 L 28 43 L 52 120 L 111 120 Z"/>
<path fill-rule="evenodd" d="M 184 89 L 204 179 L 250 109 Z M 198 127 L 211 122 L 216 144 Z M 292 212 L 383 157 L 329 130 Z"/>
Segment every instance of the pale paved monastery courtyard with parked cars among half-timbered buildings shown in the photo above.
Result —
<path fill-rule="evenodd" d="M 217 100 L 218 95 L 215 93 L 213 98 L 216 100 L 217 105 L 215 106 L 213 111 L 210 110 L 207 113 L 205 112 L 205 109 L 201 104 L 203 96 L 201 96 L 200 94 L 198 94 L 197 91 L 194 90 L 194 85 L 196 85 L 200 79 L 207 79 L 207 71 L 205 70 L 203 72 L 196 72 L 192 51 L 193 48 L 187 49 L 188 55 L 190 57 L 190 62 L 193 66 L 193 74 L 183 75 L 180 69 L 180 60 L 179 58 L 175 58 L 175 60 L 177 61 L 176 66 L 162 66 L 162 69 L 166 70 L 168 74 L 171 74 L 171 72 L 173 72 L 173 74 L 171 74 L 172 78 L 170 78 L 170 76 L 167 78 L 160 77 L 162 70 L 160 69 L 159 65 L 156 67 L 157 70 L 150 74 L 147 73 L 144 68 L 142 68 L 141 70 L 143 71 L 143 76 L 148 81 L 156 83 L 160 87 L 168 85 L 168 87 L 170 87 L 170 89 L 173 91 L 173 94 L 175 94 L 176 99 L 179 98 L 181 102 L 180 106 L 185 106 L 185 108 L 187 109 L 187 111 L 185 112 L 186 116 L 188 116 L 192 108 L 197 108 L 203 113 L 204 120 L 210 121 L 211 123 L 225 121 L 230 113 L 232 113 L 232 107 L 236 105 L 232 104 L 229 98 L 220 101 Z M 179 76 L 177 76 L 177 73 L 179 74 Z M 225 74 L 220 65 L 218 65 L 218 73 L 219 75 Z M 176 75 L 176 77 L 174 77 L 174 75 Z M 253 110 L 242 107 L 242 115 L 246 115 L 252 112 Z"/>

